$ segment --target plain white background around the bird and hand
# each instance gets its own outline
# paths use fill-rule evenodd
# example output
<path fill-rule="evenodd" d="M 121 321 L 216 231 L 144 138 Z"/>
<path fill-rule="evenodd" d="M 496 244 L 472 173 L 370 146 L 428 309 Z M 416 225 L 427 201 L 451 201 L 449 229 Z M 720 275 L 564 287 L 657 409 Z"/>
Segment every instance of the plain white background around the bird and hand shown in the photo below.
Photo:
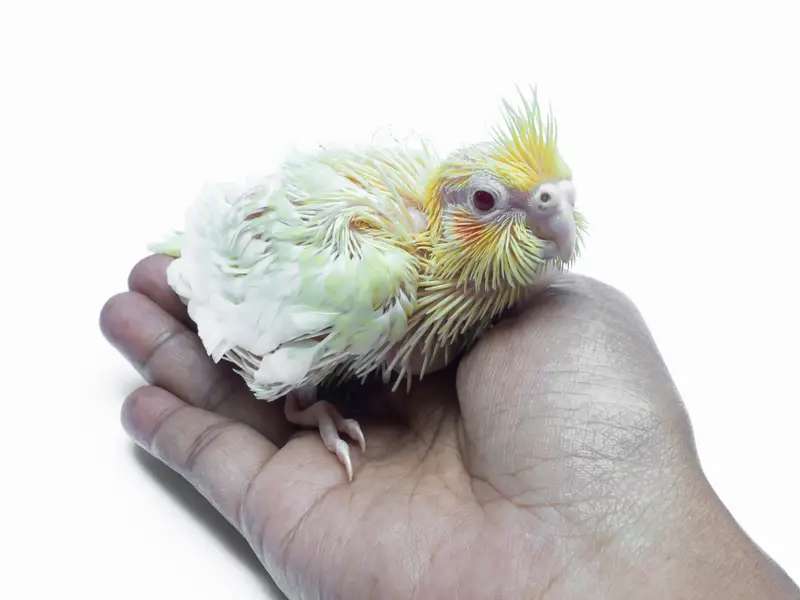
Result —
<path fill-rule="evenodd" d="M 208 181 L 381 128 L 481 139 L 537 84 L 712 484 L 800 579 L 800 22 L 793 2 L 8 2 L 0 8 L 4 598 L 268 597 L 119 420 L 97 327 Z"/>

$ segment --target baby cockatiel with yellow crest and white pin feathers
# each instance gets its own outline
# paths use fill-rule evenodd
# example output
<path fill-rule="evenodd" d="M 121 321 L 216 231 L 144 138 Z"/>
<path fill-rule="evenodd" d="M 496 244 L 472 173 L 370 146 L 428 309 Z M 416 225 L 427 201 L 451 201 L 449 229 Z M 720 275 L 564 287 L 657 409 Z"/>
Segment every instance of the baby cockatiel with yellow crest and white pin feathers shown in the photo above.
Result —
<path fill-rule="evenodd" d="M 441 368 L 575 258 L 584 220 L 572 175 L 533 92 L 503 103 L 491 141 L 440 160 L 411 147 L 321 149 L 190 207 L 170 286 L 215 361 L 253 394 L 285 397 L 318 427 L 352 480 L 340 433 L 364 436 L 323 399 L 323 382 L 376 370 L 396 387 Z"/>

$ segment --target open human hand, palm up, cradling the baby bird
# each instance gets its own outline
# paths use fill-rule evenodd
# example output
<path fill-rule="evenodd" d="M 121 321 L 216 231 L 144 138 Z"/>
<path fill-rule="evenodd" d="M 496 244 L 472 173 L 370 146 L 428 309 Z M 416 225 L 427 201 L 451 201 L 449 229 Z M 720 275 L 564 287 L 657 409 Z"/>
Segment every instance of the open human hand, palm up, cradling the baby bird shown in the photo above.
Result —
<path fill-rule="evenodd" d="M 356 394 L 347 409 L 368 446 L 348 485 L 316 431 L 205 355 L 169 260 L 140 262 L 102 310 L 151 384 L 125 400 L 124 426 L 289 598 L 800 599 L 705 479 L 619 292 L 571 276 L 411 395 Z"/>

